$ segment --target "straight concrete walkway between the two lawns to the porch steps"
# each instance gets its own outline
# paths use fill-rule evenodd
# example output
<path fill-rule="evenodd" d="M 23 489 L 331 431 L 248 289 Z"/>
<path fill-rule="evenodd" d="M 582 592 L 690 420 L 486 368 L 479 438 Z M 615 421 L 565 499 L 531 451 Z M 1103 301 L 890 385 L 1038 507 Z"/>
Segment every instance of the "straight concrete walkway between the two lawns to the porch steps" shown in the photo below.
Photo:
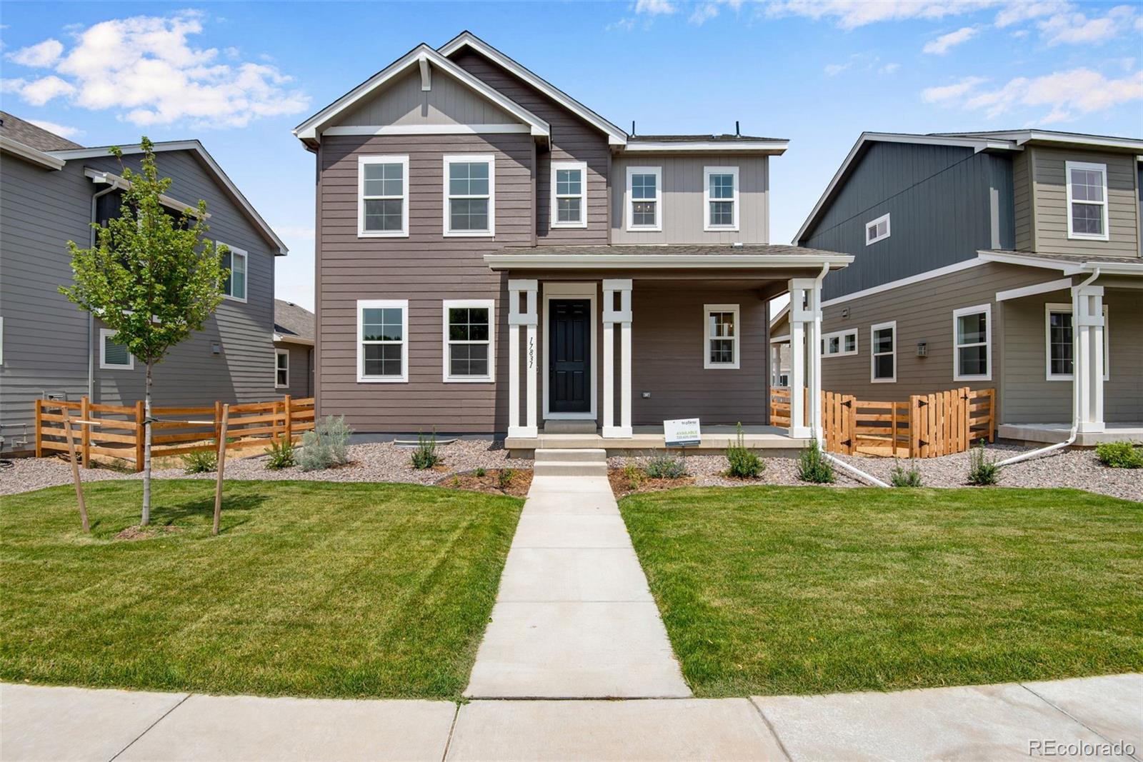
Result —
<path fill-rule="evenodd" d="M 606 476 L 533 479 L 465 696 L 690 696 Z"/>

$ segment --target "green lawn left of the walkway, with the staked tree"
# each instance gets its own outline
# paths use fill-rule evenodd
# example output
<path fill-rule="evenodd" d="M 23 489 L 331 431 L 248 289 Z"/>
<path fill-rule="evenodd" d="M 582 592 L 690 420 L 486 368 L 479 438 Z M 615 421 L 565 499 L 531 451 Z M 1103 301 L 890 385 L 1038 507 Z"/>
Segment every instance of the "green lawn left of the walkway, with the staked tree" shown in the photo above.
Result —
<path fill-rule="evenodd" d="M 398 484 L 138 481 L 2 498 L 0 680 L 342 697 L 458 698 L 521 500 Z"/>

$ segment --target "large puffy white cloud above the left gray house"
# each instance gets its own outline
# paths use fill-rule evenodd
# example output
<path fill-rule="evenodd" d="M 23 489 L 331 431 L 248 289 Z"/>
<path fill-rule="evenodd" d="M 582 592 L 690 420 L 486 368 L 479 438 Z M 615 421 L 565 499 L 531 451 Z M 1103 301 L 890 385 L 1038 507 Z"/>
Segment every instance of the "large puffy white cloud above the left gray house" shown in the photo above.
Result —
<path fill-rule="evenodd" d="M 53 75 L 5 88 L 33 105 L 65 97 L 86 109 L 115 109 L 141 127 L 184 120 L 197 128 L 245 127 L 309 107 L 309 97 L 277 66 L 218 63 L 217 49 L 192 46 L 202 19 L 187 10 L 79 27 L 71 48 L 56 56 Z"/>

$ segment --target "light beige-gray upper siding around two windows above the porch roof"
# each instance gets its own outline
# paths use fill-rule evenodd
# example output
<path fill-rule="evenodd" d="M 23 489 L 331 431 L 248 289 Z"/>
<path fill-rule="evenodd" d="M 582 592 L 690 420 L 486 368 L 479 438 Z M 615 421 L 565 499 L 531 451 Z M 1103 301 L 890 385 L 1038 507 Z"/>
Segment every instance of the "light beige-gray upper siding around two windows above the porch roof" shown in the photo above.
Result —
<path fill-rule="evenodd" d="M 628 167 L 663 168 L 662 232 L 626 230 Z M 703 168 L 738 167 L 738 230 L 703 231 Z M 766 157 L 621 157 L 612 165 L 612 242 L 768 243 Z"/>

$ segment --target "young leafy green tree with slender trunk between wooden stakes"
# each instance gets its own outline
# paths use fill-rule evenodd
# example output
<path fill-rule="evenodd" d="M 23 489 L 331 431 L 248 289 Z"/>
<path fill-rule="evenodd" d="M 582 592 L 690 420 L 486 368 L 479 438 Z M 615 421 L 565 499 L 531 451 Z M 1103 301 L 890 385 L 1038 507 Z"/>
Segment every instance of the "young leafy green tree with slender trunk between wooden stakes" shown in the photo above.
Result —
<path fill-rule="evenodd" d="M 67 242 L 75 283 L 59 292 L 95 313 L 146 363 L 145 440 L 143 456 L 143 518 L 151 521 L 151 391 L 152 370 L 167 353 L 202 323 L 222 302 L 229 275 L 222 266 L 226 247 L 206 238 L 206 201 L 174 212 L 162 195 L 169 177 L 160 177 L 153 144 L 142 139 L 142 171 L 122 165 L 122 151 L 112 147 L 127 181 L 120 216 L 105 226 L 93 223 L 96 243 L 90 249 Z"/>

